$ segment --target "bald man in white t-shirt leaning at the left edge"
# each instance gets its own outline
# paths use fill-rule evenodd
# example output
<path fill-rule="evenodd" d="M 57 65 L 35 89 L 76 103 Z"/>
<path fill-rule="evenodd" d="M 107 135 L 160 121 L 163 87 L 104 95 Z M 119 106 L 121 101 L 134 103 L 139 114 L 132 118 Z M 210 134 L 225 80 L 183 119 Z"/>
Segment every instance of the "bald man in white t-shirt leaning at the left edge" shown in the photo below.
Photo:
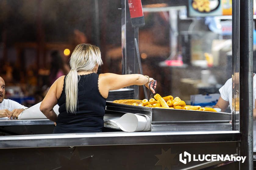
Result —
<path fill-rule="evenodd" d="M 27 107 L 5 97 L 5 81 L 0 77 L 0 117 L 14 118 L 27 109 Z"/>

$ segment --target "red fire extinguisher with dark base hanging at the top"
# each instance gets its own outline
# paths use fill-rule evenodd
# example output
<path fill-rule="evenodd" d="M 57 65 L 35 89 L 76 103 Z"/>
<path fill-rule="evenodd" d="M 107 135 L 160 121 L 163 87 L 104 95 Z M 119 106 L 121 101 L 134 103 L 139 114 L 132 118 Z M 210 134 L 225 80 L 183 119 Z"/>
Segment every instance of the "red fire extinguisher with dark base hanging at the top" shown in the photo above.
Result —
<path fill-rule="evenodd" d="M 131 22 L 133 27 L 145 25 L 145 19 L 142 11 L 141 0 L 128 0 Z"/>

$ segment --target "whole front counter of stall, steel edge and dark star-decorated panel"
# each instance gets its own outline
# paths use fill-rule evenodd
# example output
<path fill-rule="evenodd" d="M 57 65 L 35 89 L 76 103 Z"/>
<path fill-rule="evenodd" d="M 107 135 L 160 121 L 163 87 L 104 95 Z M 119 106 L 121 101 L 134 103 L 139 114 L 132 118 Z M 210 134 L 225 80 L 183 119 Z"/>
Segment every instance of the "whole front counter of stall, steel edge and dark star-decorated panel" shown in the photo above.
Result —
<path fill-rule="evenodd" d="M 0 137 L 3 169 L 233 169 L 236 161 L 189 161 L 180 154 L 237 155 L 239 131 L 101 132 Z M 15 154 L 13 154 L 15 153 Z M 13 161 L 15 160 L 15 163 Z M 186 158 L 186 155 L 185 157 Z"/>

